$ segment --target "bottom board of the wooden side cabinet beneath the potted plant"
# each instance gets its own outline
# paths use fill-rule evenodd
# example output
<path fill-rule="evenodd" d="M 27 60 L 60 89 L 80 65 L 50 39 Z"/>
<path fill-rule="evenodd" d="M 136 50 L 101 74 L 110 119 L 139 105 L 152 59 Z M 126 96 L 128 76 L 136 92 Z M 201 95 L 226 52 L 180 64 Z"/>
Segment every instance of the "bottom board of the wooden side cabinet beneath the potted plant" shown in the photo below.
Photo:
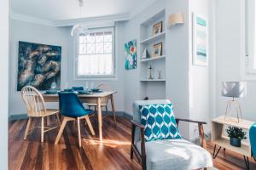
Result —
<path fill-rule="evenodd" d="M 251 156 L 251 154 L 250 154 L 251 149 L 250 149 L 250 146 L 247 144 L 241 143 L 241 147 L 235 147 L 235 146 L 230 145 L 229 139 L 224 139 L 224 138 L 212 140 L 212 143 L 217 144 L 218 146 L 222 146 L 225 149 L 232 150 L 232 151 L 234 151 L 238 154 L 241 154 L 243 156 Z"/>

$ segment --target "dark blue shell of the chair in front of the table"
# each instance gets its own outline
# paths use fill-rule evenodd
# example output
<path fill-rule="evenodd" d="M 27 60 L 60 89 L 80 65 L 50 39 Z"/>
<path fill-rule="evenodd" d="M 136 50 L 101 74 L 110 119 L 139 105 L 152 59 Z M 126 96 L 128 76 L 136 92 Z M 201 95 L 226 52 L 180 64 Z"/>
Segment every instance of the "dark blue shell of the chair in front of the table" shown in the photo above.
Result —
<path fill-rule="evenodd" d="M 73 92 L 60 92 L 59 102 L 61 115 L 69 117 L 79 117 L 87 114 L 79 97 Z"/>

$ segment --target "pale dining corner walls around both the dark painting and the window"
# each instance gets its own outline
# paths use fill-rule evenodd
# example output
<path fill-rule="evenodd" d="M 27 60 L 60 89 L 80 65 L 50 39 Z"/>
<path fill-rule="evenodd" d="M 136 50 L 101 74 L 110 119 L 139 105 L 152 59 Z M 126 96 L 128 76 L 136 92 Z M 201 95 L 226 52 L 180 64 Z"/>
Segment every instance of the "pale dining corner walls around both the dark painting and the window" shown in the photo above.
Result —
<path fill-rule="evenodd" d="M 117 77 L 112 80 L 92 80 L 95 85 L 100 82 L 107 82 L 113 90 L 118 92 L 114 95 L 116 111 L 124 111 L 124 25 L 123 22 L 119 22 L 115 26 L 115 38 L 118 42 L 115 47 Z M 85 85 L 85 80 L 74 80 L 73 77 L 73 37 L 70 36 L 70 31 L 71 27 L 43 26 L 20 20 L 10 21 L 9 115 L 26 114 L 26 107 L 20 92 L 16 90 L 19 41 L 61 46 L 61 88 Z M 57 104 L 51 103 L 48 106 L 57 108 Z"/>

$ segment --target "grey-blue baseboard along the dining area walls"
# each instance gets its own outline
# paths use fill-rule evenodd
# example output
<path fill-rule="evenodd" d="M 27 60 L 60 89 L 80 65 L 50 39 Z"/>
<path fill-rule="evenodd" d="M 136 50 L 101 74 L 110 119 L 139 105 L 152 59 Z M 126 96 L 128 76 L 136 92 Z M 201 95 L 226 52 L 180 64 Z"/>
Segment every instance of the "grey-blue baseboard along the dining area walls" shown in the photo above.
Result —
<path fill-rule="evenodd" d="M 112 115 L 112 111 L 108 111 L 110 115 Z M 107 112 L 106 111 L 102 111 L 103 115 L 106 115 Z M 115 112 L 116 116 L 123 116 L 125 119 L 131 120 L 132 116 L 128 113 L 126 113 L 125 111 L 116 111 Z M 8 121 L 12 122 L 12 121 L 18 121 L 18 120 L 22 120 L 22 119 L 27 119 L 27 115 L 26 114 L 19 114 L 19 115 L 10 115 Z"/>

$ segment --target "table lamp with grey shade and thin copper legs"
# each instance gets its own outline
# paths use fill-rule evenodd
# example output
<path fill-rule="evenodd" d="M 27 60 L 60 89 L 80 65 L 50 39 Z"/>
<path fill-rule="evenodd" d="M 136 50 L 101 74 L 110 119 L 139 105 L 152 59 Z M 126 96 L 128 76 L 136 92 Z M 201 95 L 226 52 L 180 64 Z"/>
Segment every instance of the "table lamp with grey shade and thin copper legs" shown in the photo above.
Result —
<path fill-rule="evenodd" d="M 222 82 L 221 94 L 224 97 L 232 98 L 227 102 L 225 121 L 229 121 L 227 116 L 231 116 L 231 107 L 235 105 L 237 122 L 239 122 L 242 119 L 241 106 L 235 98 L 244 98 L 247 95 L 247 82 Z"/>

